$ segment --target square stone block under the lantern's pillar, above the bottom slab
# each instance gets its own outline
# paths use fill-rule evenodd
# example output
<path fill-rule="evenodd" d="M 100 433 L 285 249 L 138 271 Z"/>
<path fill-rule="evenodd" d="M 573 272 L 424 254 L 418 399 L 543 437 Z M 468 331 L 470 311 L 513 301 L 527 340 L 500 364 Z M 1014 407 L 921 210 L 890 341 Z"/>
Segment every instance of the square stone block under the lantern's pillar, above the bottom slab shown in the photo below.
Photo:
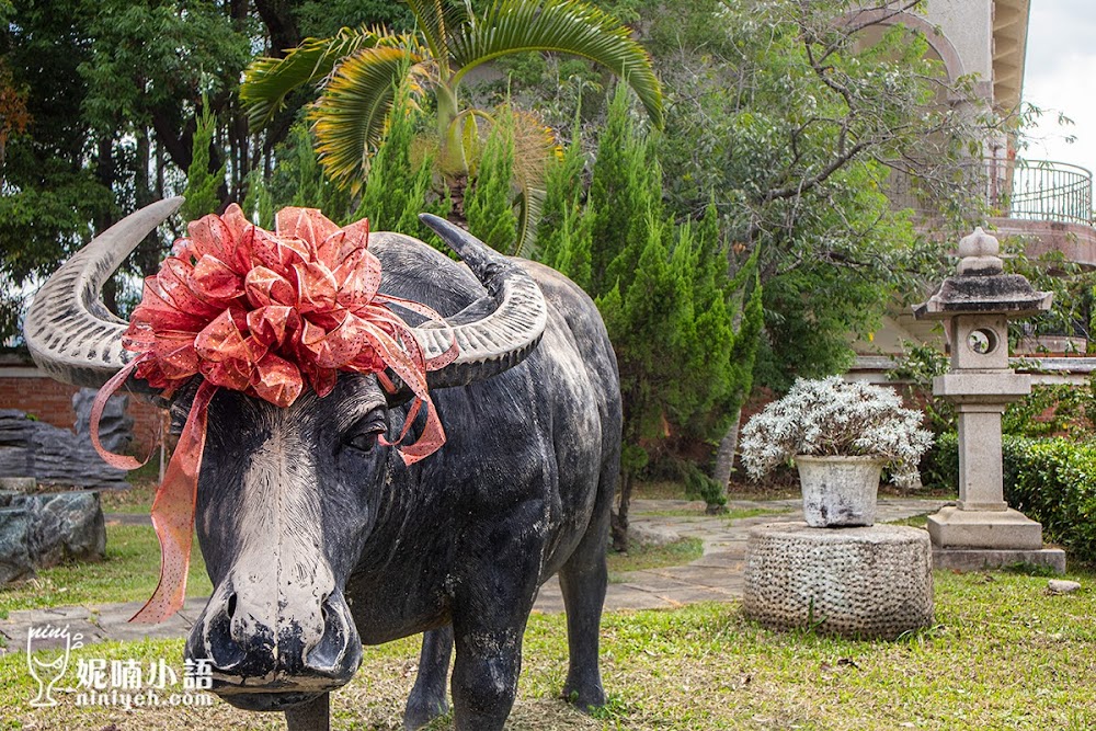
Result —
<path fill-rule="evenodd" d="M 928 535 L 939 548 L 1027 550 L 1042 548 L 1042 526 L 1012 509 L 971 511 L 941 507 L 928 516 Z"/>

